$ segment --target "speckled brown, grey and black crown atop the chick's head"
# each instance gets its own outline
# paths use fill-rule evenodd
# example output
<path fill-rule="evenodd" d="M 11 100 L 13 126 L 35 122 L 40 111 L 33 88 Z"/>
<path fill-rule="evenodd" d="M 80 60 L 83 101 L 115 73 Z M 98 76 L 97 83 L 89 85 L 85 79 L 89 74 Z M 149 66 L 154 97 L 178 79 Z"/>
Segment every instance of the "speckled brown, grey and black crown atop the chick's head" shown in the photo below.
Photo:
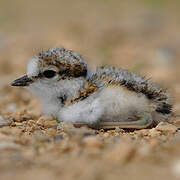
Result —
<path fill-rule="evenodd" d="M 56 66 L 62 79 L 86 76 L 87 64 L 81 56 L 64 48 L 51 48 L 36 55 L 39 67 Z"/>

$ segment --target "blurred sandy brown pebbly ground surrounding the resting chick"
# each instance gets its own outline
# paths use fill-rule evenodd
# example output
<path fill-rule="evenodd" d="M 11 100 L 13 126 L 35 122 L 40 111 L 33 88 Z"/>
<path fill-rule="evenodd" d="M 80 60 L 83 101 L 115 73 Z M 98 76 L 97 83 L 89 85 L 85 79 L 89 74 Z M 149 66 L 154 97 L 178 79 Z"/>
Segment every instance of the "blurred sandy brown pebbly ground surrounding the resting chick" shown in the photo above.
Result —
<path fill-rule="evenodd" d="M 0 1 L 0 180 L 180 179 L 178 0 Z M 10 82 L 35 53 L 65 47 L 94 70 L 113 65 L 167 89 L 175 122 L 127 132 L 43 119 Z"/>

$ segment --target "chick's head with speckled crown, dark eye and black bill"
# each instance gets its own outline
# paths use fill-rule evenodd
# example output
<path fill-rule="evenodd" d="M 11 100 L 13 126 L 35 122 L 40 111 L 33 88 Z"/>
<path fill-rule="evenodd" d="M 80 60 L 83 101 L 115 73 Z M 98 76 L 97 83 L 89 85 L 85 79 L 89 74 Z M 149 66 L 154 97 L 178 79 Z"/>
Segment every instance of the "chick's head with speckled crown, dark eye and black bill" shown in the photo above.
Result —
<path fill-rule="evenodd" d="M 26 75 L 14 80 L 12 86 L 24 86 L 42 96 L 48 92 L 65 93 L 73 82 L 85 80 L 87 64 L 81 56 L 64 48 L 51 48 L 36 54 L 27 64 Z M 79 81 L 78 81 L 79 80 Z M 80 83 L 81 84 L 81 83 Z"/>

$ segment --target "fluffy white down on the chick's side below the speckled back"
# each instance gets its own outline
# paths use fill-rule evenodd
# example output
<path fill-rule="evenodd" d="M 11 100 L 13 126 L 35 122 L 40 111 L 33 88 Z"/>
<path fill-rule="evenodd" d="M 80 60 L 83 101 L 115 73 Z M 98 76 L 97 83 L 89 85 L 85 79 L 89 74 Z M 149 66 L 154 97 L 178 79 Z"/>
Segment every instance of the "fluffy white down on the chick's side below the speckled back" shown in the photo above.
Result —
<path fill-rule="evenodd" d="M 83 101 L 63 108 L 60 121 L 95 123 L 98 121 L 129 121 L 138 112 L 150 110 L 150 102 L 124 87 L 106 87 Z"/>

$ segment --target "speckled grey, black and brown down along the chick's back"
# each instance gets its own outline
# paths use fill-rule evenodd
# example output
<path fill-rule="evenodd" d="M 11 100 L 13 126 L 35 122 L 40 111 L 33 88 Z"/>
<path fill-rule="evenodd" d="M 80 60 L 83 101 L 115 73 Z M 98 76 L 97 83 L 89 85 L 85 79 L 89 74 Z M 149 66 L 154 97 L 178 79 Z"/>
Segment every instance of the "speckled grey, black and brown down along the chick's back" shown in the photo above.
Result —
<path fill-rule="evenodd" d="M 156 104 L 157 112 L 163 114 L 171 113 L 172 105 L 168 103 L 169 98 L 162 89 L 157 88 L 149 80 L 127 70 L 110 66 L 99 67 L 88 81 L 95 84 L 98 88 L 117 85 L 124 86 L 136 93 L 143 93 Z"/>

